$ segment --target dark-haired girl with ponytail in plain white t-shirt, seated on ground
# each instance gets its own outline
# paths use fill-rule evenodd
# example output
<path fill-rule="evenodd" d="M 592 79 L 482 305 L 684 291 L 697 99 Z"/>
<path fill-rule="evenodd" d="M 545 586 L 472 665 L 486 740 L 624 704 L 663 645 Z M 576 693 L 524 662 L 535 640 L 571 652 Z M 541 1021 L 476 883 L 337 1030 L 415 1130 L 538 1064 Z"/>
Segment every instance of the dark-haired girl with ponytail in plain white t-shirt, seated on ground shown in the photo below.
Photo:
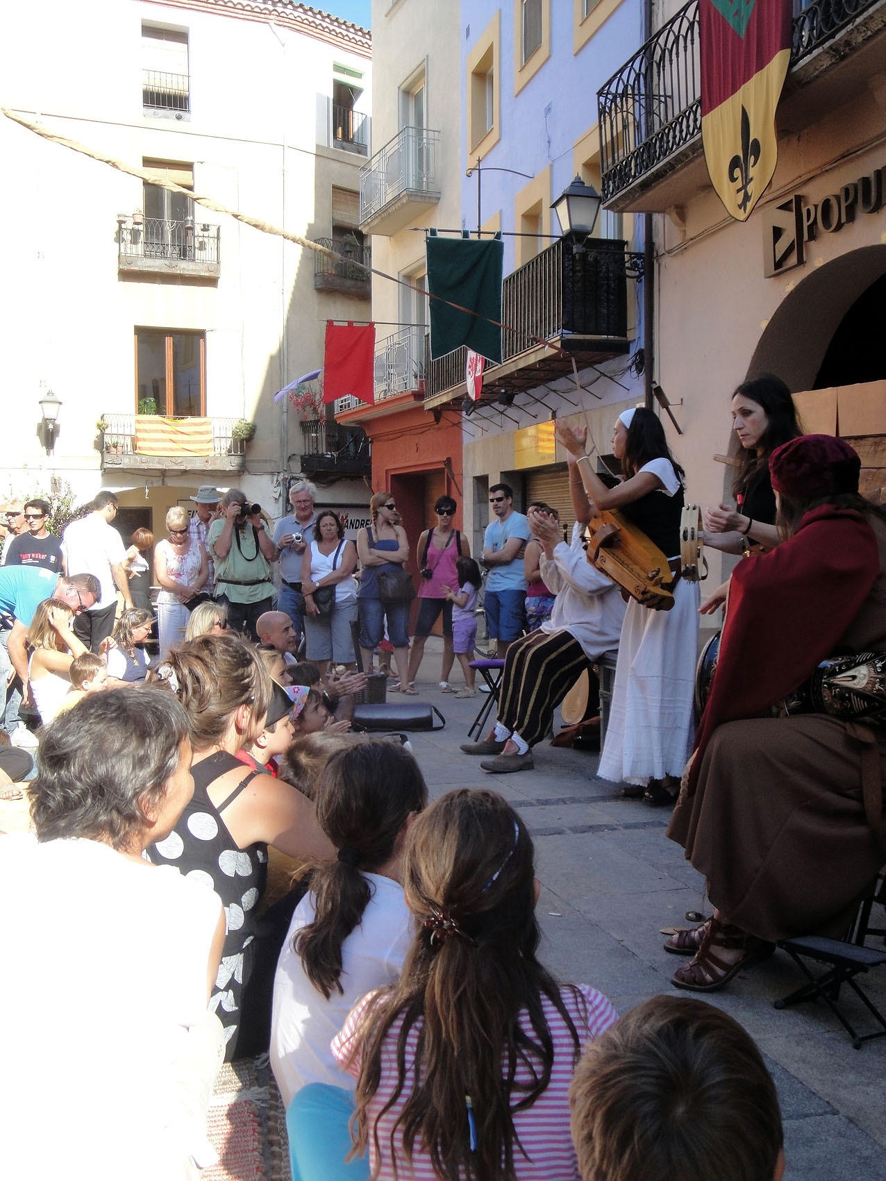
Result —
<path fill-rule="evenodd" d="M 305 1088 L 310 1094 L 300 1102 L 310 1101 L 317 1084 L 353 1091 L 330 1043 L 360 997 L 399 976 L 412 935 L 400 886 L 402 847 L 412 817 L 428 803 L 428 789 L 409 751 L 390 740 L 360 742 L 332 755 L 318 777 L 315 800 L 320 827 L 338 855 L 314 869 L 274 978 L 271 1064 L 287 1107 Z M 320 1095 L 319 1102 L 328 1100 Z M 332 1102 L 344 1113 L 338 1124 L 344 1162 L 352 1147 L 347 1118 L 353 1104 L 350 1094 L 333 1095 Z M 293 1176 L 300 1177 L 310 1166 L 298 1162 L 305 1137 L 298 1114 L 293 1118 Z M 317 1128 L 313 1108 L 308 1122 Z M 339 1175 L 331 1163 L 332 1135 L 324 1128 L 325 1179 Z"/>

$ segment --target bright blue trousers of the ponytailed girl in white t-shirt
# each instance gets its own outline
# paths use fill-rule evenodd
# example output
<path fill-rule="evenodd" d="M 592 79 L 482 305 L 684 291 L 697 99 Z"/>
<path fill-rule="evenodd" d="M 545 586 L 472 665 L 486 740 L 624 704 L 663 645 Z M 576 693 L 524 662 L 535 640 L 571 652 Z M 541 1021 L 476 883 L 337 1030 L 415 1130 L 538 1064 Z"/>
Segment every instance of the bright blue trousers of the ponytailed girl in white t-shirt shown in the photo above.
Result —
<path fill-rule="evenodd" d="M 308 1083 L 295 1091 L 286 1109 L 292 1181 L 367 1181 L 366 1156 L 345 1163 L 353 1109 L 353 1095 L 341 1087 Z"/>

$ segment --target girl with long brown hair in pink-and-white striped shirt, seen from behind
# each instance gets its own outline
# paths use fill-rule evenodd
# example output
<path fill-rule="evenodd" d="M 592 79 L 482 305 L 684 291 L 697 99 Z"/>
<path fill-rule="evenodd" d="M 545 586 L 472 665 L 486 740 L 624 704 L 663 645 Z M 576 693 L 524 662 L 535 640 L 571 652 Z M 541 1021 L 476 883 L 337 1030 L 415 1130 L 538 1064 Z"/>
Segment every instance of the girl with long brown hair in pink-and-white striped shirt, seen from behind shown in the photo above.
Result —
<path fill-rule="evenodd" d="M 418 924 L 403 974 L 333 1043 L 357 1079 L 357 1150 L 369 1146 L 372 1177 L 578 1181 L 569 1082 L 617 1014 L 536 959 L 520 817 L 494 791 L 450 791 L 410 829 L 403 888 Z"/>

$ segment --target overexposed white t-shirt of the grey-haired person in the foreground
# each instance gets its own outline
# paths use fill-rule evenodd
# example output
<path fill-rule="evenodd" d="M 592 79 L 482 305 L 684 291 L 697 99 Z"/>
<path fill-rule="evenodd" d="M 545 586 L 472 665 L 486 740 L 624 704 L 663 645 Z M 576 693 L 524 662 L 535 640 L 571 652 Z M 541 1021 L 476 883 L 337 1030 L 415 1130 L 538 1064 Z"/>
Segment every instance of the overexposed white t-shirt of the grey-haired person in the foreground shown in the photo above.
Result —
<path fill-rule="evenodd" d="M 206 1017 L 217 894 L 97 841 L 15 833 L 0 898 L 0 1176 L 181 1176 L 175 1059 Z"/>

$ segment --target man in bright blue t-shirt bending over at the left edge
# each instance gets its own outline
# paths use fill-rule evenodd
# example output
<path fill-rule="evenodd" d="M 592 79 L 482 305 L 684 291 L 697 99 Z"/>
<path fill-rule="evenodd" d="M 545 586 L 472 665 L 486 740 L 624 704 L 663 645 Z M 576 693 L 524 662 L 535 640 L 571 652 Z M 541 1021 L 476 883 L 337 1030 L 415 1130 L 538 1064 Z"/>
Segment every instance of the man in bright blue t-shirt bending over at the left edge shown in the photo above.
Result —
<path fill-rule="evenodd" d="M 0 686 L 6 686 L 9 679 L 9 666 L 19 676 L 22 686 L 27 685 L 27 629 L 34 616 L 38 603 L 44 599 L 61 599 L 72 608 L 74 615 L 87 611 L 102 593 L 98 579 L 92 574 L 72 574 L 59 578 L 54 570 L 41 566 L 4 566 L 0 567 Z"/>

